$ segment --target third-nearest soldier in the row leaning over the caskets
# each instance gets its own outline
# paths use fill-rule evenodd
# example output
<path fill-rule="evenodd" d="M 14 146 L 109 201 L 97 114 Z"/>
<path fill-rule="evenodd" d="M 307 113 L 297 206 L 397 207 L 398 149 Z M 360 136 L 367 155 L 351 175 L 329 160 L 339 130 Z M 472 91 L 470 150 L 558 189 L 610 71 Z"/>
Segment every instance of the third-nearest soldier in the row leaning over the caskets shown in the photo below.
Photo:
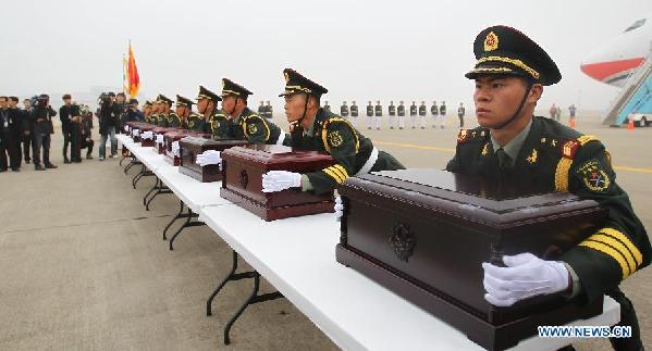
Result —
<path fill-rule="evenodd" d="M 253 95 L 245 87 L 230 79 L 222 79 L 222 112 L 229 118 L 230 139 L 246 139 L 253 143 L 283 145 L 285 131 L 247 108 Z"/>

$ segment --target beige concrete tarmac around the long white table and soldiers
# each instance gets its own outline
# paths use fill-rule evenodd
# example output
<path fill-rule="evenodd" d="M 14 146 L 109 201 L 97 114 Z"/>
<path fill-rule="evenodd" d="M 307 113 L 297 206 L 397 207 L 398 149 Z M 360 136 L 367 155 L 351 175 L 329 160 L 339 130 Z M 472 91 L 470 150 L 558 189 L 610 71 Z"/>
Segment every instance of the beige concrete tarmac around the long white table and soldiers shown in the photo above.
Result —
<path fill-rule="evenodd" d="M 390 130 L 383 120 L 382 130 L 367 129 L 365 117 L 356 124 L 408 167 L 443 168 L 455 152 L 456 116 L 444 129 L 432 128 L 429 120 L 426 129 Z M 286 128 L 284 116 L 274 121 Z M 610 128 L 580 115 L 577 128 L 606 145 L 617 183 L 652 228 L 652 127 Z M 232 329 L 233 343 L 224 346 L 222 327 L 251 286 L 229 284 L 213 303 L 213 316 L 206 316 L 206 299 L 230 266 L 227 245 L 202 226 L 186 228 L 169 251 L 161 231 L 179 211 L 179 199 L 161 195 L 145 211 L 143 196 L 153 177 L 134 190 L 135 168 L 125 176 L 120 159 L 99 162 L 97 128 L 95 160 L 63 164 L 61 128 L 56 130 L 51 161 L 59 168 L 35 172 L 23 164 L 20 173 L 0 174 L 0 350 L 337 349 L 284 299 L 249 306 Z M 652 269 L 622 287 L 652 350 Z M 263 283 L 262 292 L 273 290 Z M 575 347 L 611 349 L 599 339 Z"/>

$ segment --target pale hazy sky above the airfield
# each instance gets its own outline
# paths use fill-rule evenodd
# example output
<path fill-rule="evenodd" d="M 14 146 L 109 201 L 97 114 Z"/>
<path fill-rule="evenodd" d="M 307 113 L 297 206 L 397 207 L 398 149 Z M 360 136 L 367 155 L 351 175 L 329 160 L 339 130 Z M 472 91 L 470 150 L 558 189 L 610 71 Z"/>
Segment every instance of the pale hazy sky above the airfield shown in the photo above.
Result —
<path fill-rule="evenodd" d="M 122 86 L 131 39 L 142 95 L 219 91 L 241 83 L 281 104 L 282 70 L 329 88 L 325 100 L 471 103 L 472 41 L 506 24 L 539 42 L 562 71 L 541 105 L 604 109 L 617 92 L 579 64 L 644 14 L 652 1 L 5 1 L 0 93 L 84 92 Z M 54 97 L 59 101 L 59 97 Z"/>

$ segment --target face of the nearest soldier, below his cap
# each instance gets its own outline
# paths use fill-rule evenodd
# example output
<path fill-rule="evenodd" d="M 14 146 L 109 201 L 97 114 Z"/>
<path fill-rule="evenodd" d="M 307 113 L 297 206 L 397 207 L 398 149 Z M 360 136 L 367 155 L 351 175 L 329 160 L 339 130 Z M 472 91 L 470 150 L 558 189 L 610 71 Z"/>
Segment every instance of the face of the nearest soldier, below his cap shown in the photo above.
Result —
<path fill-rule="evenodd" d="M 526 83 L 518 77 L 478 77 L 473 93 L 478 124 L 494 128 L 507 122 L 518 110 L 526 89 Z M 526 106 L 536 103 L 540 93 L 541 85 L 536 84 L 526 101 Z M 527 110 L 526 106 L 524 111 Z"/>

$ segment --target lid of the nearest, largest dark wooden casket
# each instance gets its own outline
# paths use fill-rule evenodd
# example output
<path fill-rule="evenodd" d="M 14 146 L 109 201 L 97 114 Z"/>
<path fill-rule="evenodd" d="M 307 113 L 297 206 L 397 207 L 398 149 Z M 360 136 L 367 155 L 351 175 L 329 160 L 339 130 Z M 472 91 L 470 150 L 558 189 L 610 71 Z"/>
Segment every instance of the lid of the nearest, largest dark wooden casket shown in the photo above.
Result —
<path fill-rule="evenodd" d="M 349 196 L 352 190 L 487 225 L 507 225 L 598 208 L 595 201 L 568 192 L 544 192 L 531 186 L 501 185 L 477 176 L 430 168 L 383 171 L 352 177 L 343 184 L 341 192 Z M 377 202 L 377 205 L 382 204 Z"/>

